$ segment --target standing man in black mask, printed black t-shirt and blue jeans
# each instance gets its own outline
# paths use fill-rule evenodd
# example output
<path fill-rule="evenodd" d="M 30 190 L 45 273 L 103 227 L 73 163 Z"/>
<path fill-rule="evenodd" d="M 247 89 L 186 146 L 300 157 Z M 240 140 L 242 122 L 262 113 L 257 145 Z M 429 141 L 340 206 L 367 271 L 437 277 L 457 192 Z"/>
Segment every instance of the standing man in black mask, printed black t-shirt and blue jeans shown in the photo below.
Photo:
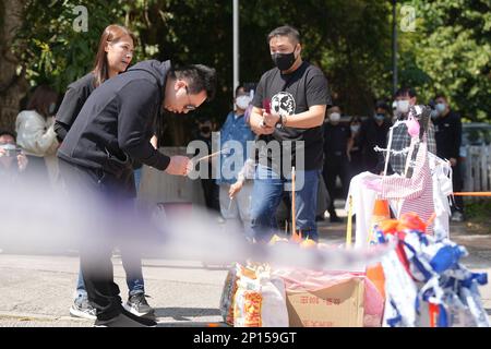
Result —
<path fill-rule="evenodd" d="M 258 85 L 251 129 L 259 135 L 259 166 L 252 194 L 252 229 L 267 241 L 284 190 L 291 188 L 296 167 L 296 226 L 304 238 L 318 239 L 315 225 L 319 176 L 323 165 L 322 123 L 331 104 L 322 71 L 302 61 L 300 34 L 290 26 L 267 38 L 276 68 Z"/>

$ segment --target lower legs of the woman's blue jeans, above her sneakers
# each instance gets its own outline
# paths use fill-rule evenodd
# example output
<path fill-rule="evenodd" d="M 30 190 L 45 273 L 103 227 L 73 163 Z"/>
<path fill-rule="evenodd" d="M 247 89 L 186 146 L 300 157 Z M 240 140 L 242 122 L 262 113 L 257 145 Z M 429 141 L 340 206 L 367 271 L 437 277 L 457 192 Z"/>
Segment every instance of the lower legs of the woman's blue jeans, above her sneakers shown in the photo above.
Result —
<path fill-rule="evenodd" d="M 121 262 L 127 274 L 127 286 L 130 296 L 145 292 L 145 284 L 143 281 L 142 258 L 139 254 L 131 250 L 131 246 L 125 250 L 121 248 Z M 79 272 L 79 279 L 76 281 L 76 297 L 85 297 L 84 277 L 82 269 Z"/>

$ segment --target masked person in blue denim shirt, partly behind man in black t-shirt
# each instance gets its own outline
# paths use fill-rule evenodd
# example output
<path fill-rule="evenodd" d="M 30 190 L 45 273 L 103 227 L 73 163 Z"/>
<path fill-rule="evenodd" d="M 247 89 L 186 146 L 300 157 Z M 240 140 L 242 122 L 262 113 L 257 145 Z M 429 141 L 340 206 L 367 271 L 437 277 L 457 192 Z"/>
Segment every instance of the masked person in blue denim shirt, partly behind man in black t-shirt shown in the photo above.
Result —
<path fill-rule="evenodd" d="M 253 89 L 251 89 L 253 92 Z M 246 91 L 243 85 L 236 88 L 235 110 L 230 111 L 220 130 L 220 151 L 227 147 L 227 142 L 239 142 L 242 146 L 243 164 L 248 159 L 248 142 L 254 141 L 255 135 L 246 120 L 246 110 L 249 108 L 253 94 Z M 237 154 L 223 153 L 220 171 L 216 183 L 219 185 L 219 203 L 221 216 L 226 224 L 233 228 L 243 229 L 246 237 L 252 238 L 251 230 L 251 195 L 253 183 L 247 178 L 241 168 L 229 164 L 227 159 L 236 159 Z M 252 169 L 253 170 L 253 169 Z M 246 171 L 246 170 L 244 170 Z M 251 171 L 250 171 L 251 172 Z"/>

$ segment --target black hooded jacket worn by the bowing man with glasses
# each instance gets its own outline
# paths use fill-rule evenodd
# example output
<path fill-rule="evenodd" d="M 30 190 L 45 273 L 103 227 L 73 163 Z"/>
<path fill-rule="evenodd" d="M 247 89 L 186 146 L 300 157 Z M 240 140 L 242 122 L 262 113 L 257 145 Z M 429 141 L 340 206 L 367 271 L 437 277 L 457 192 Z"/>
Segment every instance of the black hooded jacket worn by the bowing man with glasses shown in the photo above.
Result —
<path fill-rule="evenodd" d="M 58 157 L 116 178 L 132 170 L 131 160 L 165 170 L 170 158 L 149 140 L 170 68 L 170 61 L 143 61 L 97 87 L 64 137 Z"/>

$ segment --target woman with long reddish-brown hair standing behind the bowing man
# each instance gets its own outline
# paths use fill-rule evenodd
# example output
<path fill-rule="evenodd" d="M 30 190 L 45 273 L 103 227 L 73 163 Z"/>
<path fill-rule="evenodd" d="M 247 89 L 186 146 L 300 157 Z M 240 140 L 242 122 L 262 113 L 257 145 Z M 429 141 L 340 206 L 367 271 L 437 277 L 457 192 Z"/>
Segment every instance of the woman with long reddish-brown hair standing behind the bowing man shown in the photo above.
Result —
<path fill-rule="evenodd" d="M 133 58 L 134 35 L 125 27 L 111 24 L 107 26 L 99 40 L 93 70 L 72 83 L 57 113 L 55 130 L 62 142 L 92 92 L 105 81 L 124 72 Z M 127 179 L 128 185 L 134 185 L 133 176 Z M 129 299 L 124 308 L 139 316 L 154 316 L 154 310 L 145 299 L 141 256 L 131 249 L 120 246 L 121 258 L 127 273 Z M 95 320 L 96 311 L 87 299 L 82 272 L 79 274 L 74 304 L 70 309 L 72 316 Z"/>

